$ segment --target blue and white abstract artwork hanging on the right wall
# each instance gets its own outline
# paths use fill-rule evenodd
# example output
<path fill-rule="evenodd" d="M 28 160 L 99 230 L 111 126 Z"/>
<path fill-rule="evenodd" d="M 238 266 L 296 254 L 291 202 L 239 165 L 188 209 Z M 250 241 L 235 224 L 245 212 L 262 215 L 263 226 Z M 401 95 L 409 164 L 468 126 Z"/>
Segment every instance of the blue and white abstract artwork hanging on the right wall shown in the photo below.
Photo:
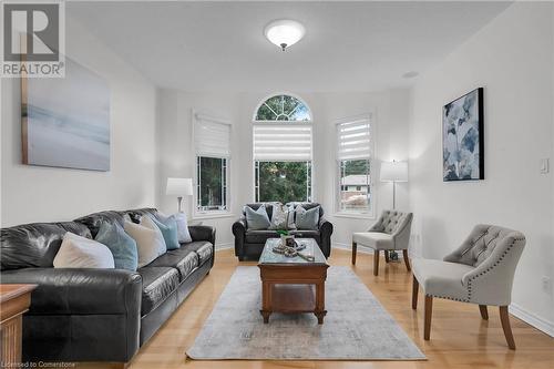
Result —
<path fill-rule="evenodd" d="M 442 110 L 443 181 L 484 178 L 483 89 L 444 105 Z"/>

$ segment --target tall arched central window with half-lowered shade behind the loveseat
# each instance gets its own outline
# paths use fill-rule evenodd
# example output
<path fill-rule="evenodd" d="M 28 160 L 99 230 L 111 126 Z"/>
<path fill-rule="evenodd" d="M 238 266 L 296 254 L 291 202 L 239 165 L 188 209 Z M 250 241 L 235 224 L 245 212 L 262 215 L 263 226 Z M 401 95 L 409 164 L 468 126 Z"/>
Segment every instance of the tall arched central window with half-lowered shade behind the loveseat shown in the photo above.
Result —
<path fill-rule="evenodd" d="M 311 201 L 311 112 L 291 95 L 266 99 L 254 114 L 256 202 Z"/>

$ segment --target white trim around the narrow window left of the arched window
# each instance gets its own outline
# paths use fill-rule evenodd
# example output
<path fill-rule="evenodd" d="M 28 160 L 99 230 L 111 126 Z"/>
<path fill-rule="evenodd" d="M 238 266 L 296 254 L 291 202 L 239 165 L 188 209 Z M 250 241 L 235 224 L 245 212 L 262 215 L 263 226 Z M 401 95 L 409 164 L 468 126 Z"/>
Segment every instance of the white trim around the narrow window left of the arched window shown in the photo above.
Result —
<path fill-rule="evenodd" d="M 195 145 L 195 140 L 194 140 L 194 130 L 196 127 L 196 124 L 198 121 L 208 121 L 208 122 L 213 122 L 213 123 L 219 123 L 219 124 L 226 124 L 229 126 L 229 141 L 233 136 L 233 123 L 229 121 L 229 120 L 226 120 L 226 119 L 222 119 L 222 117 L 217 117 L 217 116 L 213 116 L 213 115 L 209 115 L 209 114 L 203 114 L 203 113 L 198 113 L 196 112 L 194 109 L 192 110 L 192 134 L 191 134 L 191 137 L 192 137 L 192 145 L 191 145 L 191 148 L 192 148 L 192 157 L 194 160 L 194 167 L 193 167 L 193 171 L 194 171 L 194 175 L 193 175 L 193 187 L 194 187 L 194 195 L 193 195 L 193 221 L 194 219 L 207 219 L 207 218 L 216 218 L 216 217 L 228 217 L 228 216 L 233 216 L 233 214 L 230 213 L 230 209 L 233 208 L 233 198 L 230 196 L 230 186 L 232 186 L 232 171 L 230 171 L 230 167 L 232 167 L 232 156 L 233 156 L 233 147 L 232 147 L 232 142 L 229 142 L 229 150 L 230 150 L 230 153 L 229 153 L 229 156 L 226 157 L 227 160 L 227 168 L 226 168 L 226 193 L 225 193 L 225 196 L 226 196 L 226 206 L 227 208 L 225 211 L 198 211 L 198 170 L 197 170 L 197 165 L 198 165 L 198 161 L 197 161 L 197 154 L 196 154 L 196 145 Z M 222 157 L 223 158 L 223 157 Z"/>

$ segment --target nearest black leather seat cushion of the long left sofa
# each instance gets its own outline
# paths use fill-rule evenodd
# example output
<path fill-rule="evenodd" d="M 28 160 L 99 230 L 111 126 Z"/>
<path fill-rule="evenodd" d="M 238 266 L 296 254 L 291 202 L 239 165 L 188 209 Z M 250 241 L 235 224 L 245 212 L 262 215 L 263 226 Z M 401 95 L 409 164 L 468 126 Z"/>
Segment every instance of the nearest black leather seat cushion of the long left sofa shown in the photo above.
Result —
<path fill-rule="evenodd" d="M 142 276 L 142 306 L 144 316 L 162 304 L 179 284 L 179 274 L 172 267 L 145 266 L 136 270 Z"/>

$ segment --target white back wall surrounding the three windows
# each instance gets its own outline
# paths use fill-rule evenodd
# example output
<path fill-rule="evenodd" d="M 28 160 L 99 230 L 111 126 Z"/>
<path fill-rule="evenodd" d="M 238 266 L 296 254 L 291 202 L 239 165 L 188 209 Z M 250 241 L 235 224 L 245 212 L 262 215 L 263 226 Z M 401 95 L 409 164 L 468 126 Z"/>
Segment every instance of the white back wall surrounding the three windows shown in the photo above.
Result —
<path fill-rule="evenodd" d="M 234 243 L 230 227 L 242 207 L 254 201 L 252 157 L 252 119 L 256 106 L 268 95 L 276 93 L 191 93 L 158 90 L 158 191 L 157 204 L 164 212 L 176 209 L 174 196 L 165 195 L 167 176 L 192 177 L 192 110 L 229 120 L 233 123 L 233 157 L 230 161 L 232 215 L 223 218 L 204 218 L 204 224 L 217 227 L 219 247 Z M 350 245 L 351 233 L 365 230 L 372 219 L 335 217 L 335 123 L 338 119 L 373 112 L 378 142 L 376 163 L 380 160 L 408 157 L 408 105 L 407 90 L 375 93 L 302 93 L 299 95 L 314 115 L 314 198 L 324 205 L 327 217 L 335 224 L 334 242 Z M 392 187 L 376 181 L 377 214 L 392 204 Z M 398 207 L 408 206 L 408 184 L 399 184 Z M 187 202 L 188 213 L 193 209 Z M 201 219 L 196 219 L 201 221 Z"/>

